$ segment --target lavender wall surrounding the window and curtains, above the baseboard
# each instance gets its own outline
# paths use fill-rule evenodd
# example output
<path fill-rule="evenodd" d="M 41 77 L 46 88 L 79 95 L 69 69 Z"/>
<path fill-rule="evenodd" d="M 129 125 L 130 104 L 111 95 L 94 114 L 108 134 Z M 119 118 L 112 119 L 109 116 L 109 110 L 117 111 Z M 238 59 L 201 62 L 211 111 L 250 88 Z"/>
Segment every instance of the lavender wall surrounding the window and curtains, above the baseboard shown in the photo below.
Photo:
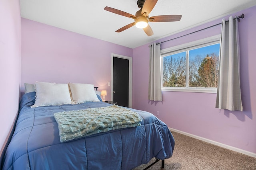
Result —
<path fill-rule="evenodd" d="M 244 111 L 228 111 L 215 108 L 216 94 L 192 92 L 162 92 L 163 102 L 151 102 L 148 97 L 148 45 L 133 50 L 133 107 L 152 112 L 168 127 L 256 153 L 256 6 L 232 14 L 245 18 L 239 22 L 241 55 L 241 90 Z M 226 18 L 228 19 L 228 17 Z M 222 19 L 200 25 L 182 33 L 160 39 L 163 42 L 195 30 L 221 23 Z M 216 26 L 192 35 L 161 44 L 161 49 L 188 43 L 220 34 Z M 140 94 L 140 95 L 137 95 Z"/>

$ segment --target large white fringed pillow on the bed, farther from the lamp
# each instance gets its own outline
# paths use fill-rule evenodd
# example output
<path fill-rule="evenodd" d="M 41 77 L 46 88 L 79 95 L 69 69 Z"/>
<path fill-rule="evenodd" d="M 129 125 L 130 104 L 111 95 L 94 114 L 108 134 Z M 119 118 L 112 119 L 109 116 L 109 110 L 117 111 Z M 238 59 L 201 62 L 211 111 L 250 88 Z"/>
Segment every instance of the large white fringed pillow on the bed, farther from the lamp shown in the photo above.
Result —
<path fill-rule="evenodd" d="M 31 107 L 72 104 L 68 84 L 36 82 L 36 102 Z"/>

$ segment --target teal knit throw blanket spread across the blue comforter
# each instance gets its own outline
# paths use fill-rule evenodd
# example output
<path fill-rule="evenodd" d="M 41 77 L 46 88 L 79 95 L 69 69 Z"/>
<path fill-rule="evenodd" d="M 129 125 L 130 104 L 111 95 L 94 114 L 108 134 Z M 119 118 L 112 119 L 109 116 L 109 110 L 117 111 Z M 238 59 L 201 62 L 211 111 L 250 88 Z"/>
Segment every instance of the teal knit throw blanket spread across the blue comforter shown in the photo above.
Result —
<path fill-rule="evenodd" d="M 96 133 L 140 126 L 137 113 L 112 105 L 54 113 L 58 123 L 60 142 L 66 142 Z"/>

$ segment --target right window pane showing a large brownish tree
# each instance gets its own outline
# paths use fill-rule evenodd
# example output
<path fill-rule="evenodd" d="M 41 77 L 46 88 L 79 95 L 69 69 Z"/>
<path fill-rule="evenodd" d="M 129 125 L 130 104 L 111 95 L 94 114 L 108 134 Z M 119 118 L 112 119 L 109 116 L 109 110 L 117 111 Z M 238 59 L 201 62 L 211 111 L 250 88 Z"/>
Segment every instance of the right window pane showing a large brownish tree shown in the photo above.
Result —
<path fill-rule="evenodd" d="M 220 44 L 189 51 L 189 87 L 217 87 Z"/>

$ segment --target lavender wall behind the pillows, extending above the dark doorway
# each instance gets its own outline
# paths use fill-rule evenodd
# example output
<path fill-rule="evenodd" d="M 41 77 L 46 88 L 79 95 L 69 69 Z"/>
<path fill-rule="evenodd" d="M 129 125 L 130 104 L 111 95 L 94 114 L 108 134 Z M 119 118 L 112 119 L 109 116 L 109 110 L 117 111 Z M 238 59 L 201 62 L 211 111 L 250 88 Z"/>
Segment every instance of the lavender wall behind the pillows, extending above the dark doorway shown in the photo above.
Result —
<path fill-rule="evenodd" d="M 130 48 L 22 18 L 21 91 L 24 82 L 73 82 L 110 94 L 111 53 L 132 57 Z"/>

